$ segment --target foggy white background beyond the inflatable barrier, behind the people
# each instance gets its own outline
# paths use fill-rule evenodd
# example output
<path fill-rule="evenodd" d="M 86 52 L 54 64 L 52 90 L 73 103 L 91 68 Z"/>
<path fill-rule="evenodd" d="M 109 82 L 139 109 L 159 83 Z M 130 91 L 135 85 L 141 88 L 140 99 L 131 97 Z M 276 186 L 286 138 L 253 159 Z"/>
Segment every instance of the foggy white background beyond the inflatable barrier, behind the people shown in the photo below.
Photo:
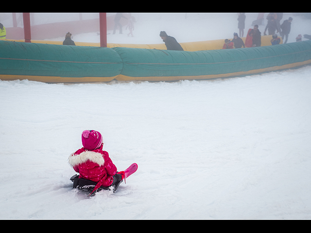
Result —
<path fill-rule="evenodd" d="M 9 31 L 8 28 L 14 26 L 23 28 L 22 13 L 15 14 L 16 25 L 13 25 L 13 13 L 0 13 L 0 22 L 7 28 L 7 31 Z M 127 36 L 129 31 L 126 29 L 127 20 L 124 18 L 121 20 L 123 34 L 119 34 L 119 30 L 117 30 L 116 34 L 113 34 L 112 28 L 114 26 L 115 14 L 106 14 L 108 24 L 107 43 L 163 43 L 159 37 L 160 31 L 166 31 L 169 35 L 175 37 L 178 42 L 230 39 L 233 37 L 233 33 L 239 33 L 238 13 L 122 13 L 127 17 L 131 14 L 135 18 L 134 37 L 130 37 Z M 252 22 L 258 16 L 258 13 L 245 14 L 244 37 L 247 30 L 253 28 Z M 264 14 L 264 23 L 259 25 L 261 35 L 263 35 L 268 14 Z M 311 13 L 284 13 L 280 23 L 288 19 L 288 17 L 294 18 L 288 43 L 294 42 L 298 34 L 311 34 L 311 24 L 306 26 L 305 23 L 300 23 L 301 20 L 311 20 Z M 74 41 L 100 42 L 99 13 L 30 13 L 30 18 L 31 26 L 44 25 L 45 28 L 51 27 L 49 32 L 54 33 L 54 35 L 43 31 L 40 33 L 37 32 L 39 29 L 32 27 L 33 40 L 38 39 L 35 38 L 35 33 L 37 33 L 40 34 L 39 39 L 63 41 L 65 34 L 70 32 Z M 62 25 L 65 25 L 65 22 L 74 23 L 72 26 L 62 27 Z M 219 27 L 219 25 L 222 25 L 222 27 Z M 279 35 L 279 33 L 277 34 Z M 9 38 L 9 33 L 7 32 L 7 39 L 17 38 Z"/>

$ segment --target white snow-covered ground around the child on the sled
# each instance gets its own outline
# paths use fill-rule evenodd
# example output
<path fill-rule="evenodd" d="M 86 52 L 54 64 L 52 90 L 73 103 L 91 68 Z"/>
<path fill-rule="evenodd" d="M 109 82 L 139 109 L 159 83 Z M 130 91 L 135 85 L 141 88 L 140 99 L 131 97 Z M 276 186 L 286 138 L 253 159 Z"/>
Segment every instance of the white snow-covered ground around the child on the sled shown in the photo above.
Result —
<path fill-rule="evenodd" d="M 179 41 L 203 40 L 204 20 Z M 293 31 L 298 21 L 310 29 L 296 17 Z M 175 20 L 162 22 L 157 42 L 141 28 L 108 43 L 161 43 Z M 310 119 L 311 66 L 173 83 L 0 81 L 0 219 L 311 219 Z M 71 188 L 68 157 L 86 129 L 119 170 L 138 164 L 115 194 Z"/>

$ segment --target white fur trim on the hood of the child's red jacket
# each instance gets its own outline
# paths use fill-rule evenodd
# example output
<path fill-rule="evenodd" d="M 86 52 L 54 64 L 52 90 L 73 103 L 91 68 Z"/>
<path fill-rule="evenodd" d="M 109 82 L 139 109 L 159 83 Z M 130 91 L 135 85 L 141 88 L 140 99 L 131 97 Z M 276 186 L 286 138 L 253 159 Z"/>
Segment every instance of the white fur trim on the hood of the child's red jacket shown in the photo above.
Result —
<path fill-rule="evenodd" d="M 105 161 L 103 155 L 101 153 L 97 153 L 94 151 L 86 150 L 80 154 L 72 153 L 69 155 L 68 162 L 71 166 L 77 166 L 80 164 L 84 164 L 87 161 L 94 162 L 99 166 L 103 166 Z"/>

